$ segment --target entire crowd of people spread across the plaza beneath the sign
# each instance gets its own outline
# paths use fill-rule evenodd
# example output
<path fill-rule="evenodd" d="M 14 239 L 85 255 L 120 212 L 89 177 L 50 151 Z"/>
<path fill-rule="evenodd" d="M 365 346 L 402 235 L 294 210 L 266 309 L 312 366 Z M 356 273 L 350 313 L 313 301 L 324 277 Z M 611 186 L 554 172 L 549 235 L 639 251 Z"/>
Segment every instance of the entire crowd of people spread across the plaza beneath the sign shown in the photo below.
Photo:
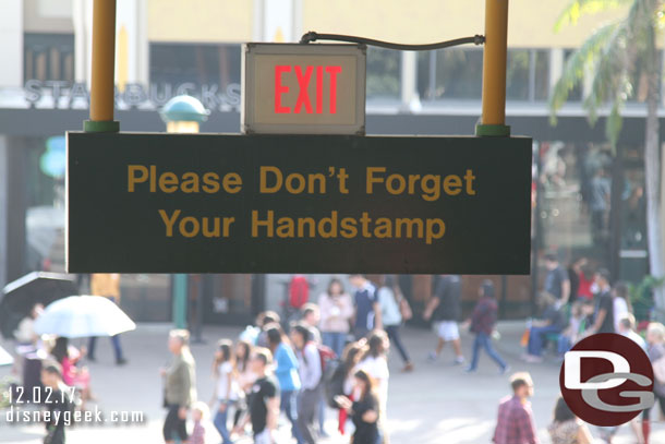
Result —
<path fill-rule="evenodd" d="M 620 281 L 612 285 L 606 271 L 592 271 L 585 260 L 576 261 L 568 271 L 554 255 L 547 256 L 546 262 L 544 291 L 539 297 L 541 314 L 529 321 L 522 338 L 525 361 L 542 362 L 547 349 L 563 359 L 577 341 L 597 333 L 630 338 L 654 363 L 665 358 L 665 326 L 654 322 L 636 325 L 627 285 Z M 331 432 L 326 430 L 326 420 L 329 424 L 332 419 L 337 422 L 336 433 L 353 444 L 388 443 L 387 357 L 390 348 L 396 349 L 403 362 L 402 371 L 414 371 L 400 336 L 401 325 L 413 313 L 395 276 L 380 276 L 375 285 L 363 275 L 351 275 L 349 283 L 351 290 L 347 291 L 340 279 L 332 278 L 316 303 L 302 300 L 295 312 L 289 312 L 288 320 L 266 311 L 238 337 L 220 339 L 214 350 L 210 374 L 215 389 L 209 399 L 201 399 L 196 391 L 196 364 L 189 347 L 189 332 L 171 331 L 168 349 L 172 360 L 159 370 L 167 410 L 165 442 L 203 444 L 206 425 L 210 424 L 222 444 L 241 439 L 252 439 L 257 444 L 279 443 L 277 436 L 283 435 L 285 428 L 298 444 L 314 444 Z M 33 346 L 41 340 L 31 327 L 41 310 L 35 305 L 20 324 L 19 340 Z M 422 314 L 432 322 L 436 334 L 436 346 L 427 358 L 439 359 L 450 343 L 451 363 L 468 362 L 467 373 L 477 371 L 485 351 L 497 365 L 498 374 L 506 374 L 510 367 L 493 346 L 497 315 L 498 303 L 491 280 L 482 281 L 477 301 L 464 320 L 461 277 L 437 276 L 433 297 Z M 468 328 L 473 336 L 469 361 L 462 353 L 460 328 Z M 118 352 L 116 338 L 113 348 Z M 77 408 L 85 408 L 85 401 L 93 398 L 90 375 L 81 364 L 85 347 L 76 349 L 68 338 L 55 337 L 47 351 L 49 357 L 38 376 L 40 383 L 62 393 L 63 403 L 75 393 Z M 125 362 L 121 351 L 116 358 L 118 364 Z M 499 404 L 493 442 L 535 444 L 539 441 L 529 401 L 533 381 L 528 373 L 519 372 L 510 377 L 510 386 L 512 394 Z M 662 380 L 656 379 L 654 392 L 661 411 L 665 411 Z M 49 408 L 70 407 L 62 404 Z M 650 443 L 650 417 L 651 411 L 645 410 L 630 422 L 638 444 Z M 190 420 L 193 424 L 188 423 Z M 593 442 L 593 435 L 610 443 L 617 428 L 590 429 L 559 398 L 547 430 L 553 444 L 587 444 Z M 49 444 L 63 443 L 64 427 L 48 423 L 47 440 Z"/>

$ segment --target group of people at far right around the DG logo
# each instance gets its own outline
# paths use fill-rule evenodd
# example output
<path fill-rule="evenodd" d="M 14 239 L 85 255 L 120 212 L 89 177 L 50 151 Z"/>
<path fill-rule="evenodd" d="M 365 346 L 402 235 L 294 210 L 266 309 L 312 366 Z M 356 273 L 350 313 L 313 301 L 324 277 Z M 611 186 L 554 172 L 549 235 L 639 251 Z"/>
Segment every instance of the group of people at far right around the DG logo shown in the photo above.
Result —
<path fill-rule="evenodd" d="M 541 314 L 537 319 L 528 321 L 528 328 L 522 337 L 522 345 L 525 347 L 523 360 L 531 363 L 542 362 L 549 345 L 558 359 L 563 360 L 564 355 L 583 338 L 614 333 L 638 344 L 654 364 L 654 371 L 661 365 L 656 362 L 665 357 L 665 326 L 648 320 L 637 323 L 626 283 L 616 281 L 612 285 L 612 276 L 606 269 L 593 269 L 583 257 L 573 261 L 569 269 L 565 269 L 556 255 L 549 254 L 546 256 L 546 266 L 544 290 L 539 297 Z M 665 384 L 657 377 L 654 382 L 654 397 L 661 411 L 665 412 Z M 557 404 L 555 411 L 559 417 L 567 417 L 567 407 L 564 407 L 563 400 L 560 403 L 563 405 Z M 650 410 L 644 410 L 641 418 L 630 422 L 638 444 L 650 442 Z M 576 423 L 579 424 L 579 421 Z M 572 432 L 566 431 L 568 428 L 557 427 L 554 432 L 551 429 L 555 444 L 591 442 L 584 437 L 590 436 L 590 432 L 580 429 L 581 425 L 576 429 L 580 433 L 577 441 L 566 439 L 565 436 L 572 436 Z M 617 428 L 598 428 L 596 433 L 602 440 L 610 443 L 616 431 Z M 501 441 L 495 436 L 495 442 L 503 444 L 511 441 Z M 522 442 L 535 443 L 529 440 Z"/>

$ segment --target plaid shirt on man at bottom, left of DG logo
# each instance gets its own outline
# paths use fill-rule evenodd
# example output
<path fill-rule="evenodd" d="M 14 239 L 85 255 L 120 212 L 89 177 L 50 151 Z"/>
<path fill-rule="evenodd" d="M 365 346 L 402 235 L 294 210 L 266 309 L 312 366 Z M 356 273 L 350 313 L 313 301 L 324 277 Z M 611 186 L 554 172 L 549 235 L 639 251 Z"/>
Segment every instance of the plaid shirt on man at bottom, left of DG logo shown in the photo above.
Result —
<path fill-rule="evenodd" d="M 495 444 L 537 444 L 531 403 L 522 404 L 517 396 L 501 399 L 492 441 Z"/>

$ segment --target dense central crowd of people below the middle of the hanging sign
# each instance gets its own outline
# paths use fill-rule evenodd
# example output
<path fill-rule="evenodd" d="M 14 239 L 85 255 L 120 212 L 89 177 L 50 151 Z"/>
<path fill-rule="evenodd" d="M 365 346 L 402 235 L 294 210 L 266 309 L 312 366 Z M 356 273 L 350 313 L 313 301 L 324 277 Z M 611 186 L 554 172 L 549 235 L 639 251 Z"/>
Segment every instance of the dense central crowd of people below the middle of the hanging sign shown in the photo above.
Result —
<path fill-rule="evenodd" d="M 351 276 L 350 283 L 352 295 L 341 280 L 331 279 L 318 304 L 304 303 L 300 319 L 288 325 L 267 311 L 234 340 L 220 339 L 211 369 L 216 389 L 207 404 L 196 400 L 189 333 L 172 331 L 168 345 L 173 359 L 160 369 L 165 442 L 202 444 L 202 419 L 210 410 L 223 444 L 246 433 L 257 444 L 276 442 L 281 415 L 298 444 L 315 444 L 327 435 L 327 407 L 338 412 L 338 432 L 354 444 L 388 442 L 387 353 L 395 344 L 403 370 L 413 370 L 399 334 L 410 309 L 392 276 L 382 277 L 378 288 L 363 275 Z"/>

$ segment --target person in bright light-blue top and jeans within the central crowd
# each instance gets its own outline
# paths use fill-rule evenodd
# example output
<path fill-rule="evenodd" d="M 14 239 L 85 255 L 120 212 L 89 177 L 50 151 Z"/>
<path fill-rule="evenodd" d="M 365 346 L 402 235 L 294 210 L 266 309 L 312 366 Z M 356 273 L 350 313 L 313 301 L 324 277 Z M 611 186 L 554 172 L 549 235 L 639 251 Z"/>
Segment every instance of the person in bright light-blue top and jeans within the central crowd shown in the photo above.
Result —
<path fill-rule="evenodd" d="M 298 444 L 302 444 L 303 435 L 298 425 L 298 394 L 301 389 L 298 358 L 279 324 L 268 325 L 266 335 L 270 352 L 275 357 L 275 375 L 280 393 L 279 410 L 283 411 L 291 422 L 291 434 Z"/>

